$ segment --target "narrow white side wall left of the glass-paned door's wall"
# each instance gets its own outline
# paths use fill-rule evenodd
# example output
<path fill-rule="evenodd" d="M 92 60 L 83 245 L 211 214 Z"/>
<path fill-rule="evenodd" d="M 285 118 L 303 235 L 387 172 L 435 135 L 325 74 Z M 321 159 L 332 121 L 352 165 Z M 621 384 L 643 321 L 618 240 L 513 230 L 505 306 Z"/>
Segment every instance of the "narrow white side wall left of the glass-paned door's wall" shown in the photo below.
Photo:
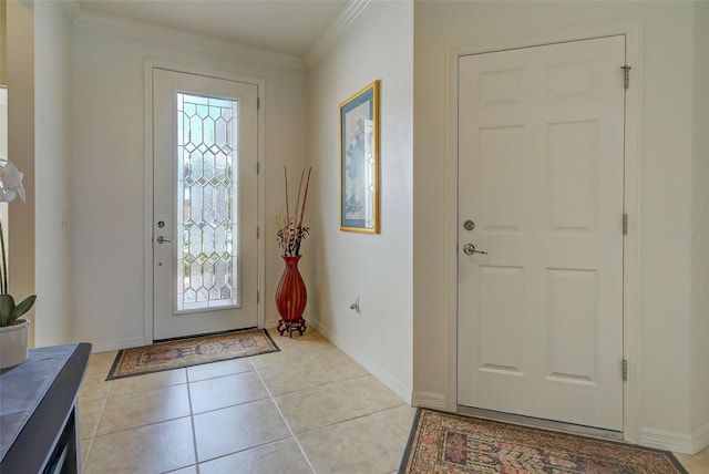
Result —
<path fill-rule="evenodd" d="M 71 23 L 61 2 L 34 3 L 35 346 L 70 342 Z"/>

